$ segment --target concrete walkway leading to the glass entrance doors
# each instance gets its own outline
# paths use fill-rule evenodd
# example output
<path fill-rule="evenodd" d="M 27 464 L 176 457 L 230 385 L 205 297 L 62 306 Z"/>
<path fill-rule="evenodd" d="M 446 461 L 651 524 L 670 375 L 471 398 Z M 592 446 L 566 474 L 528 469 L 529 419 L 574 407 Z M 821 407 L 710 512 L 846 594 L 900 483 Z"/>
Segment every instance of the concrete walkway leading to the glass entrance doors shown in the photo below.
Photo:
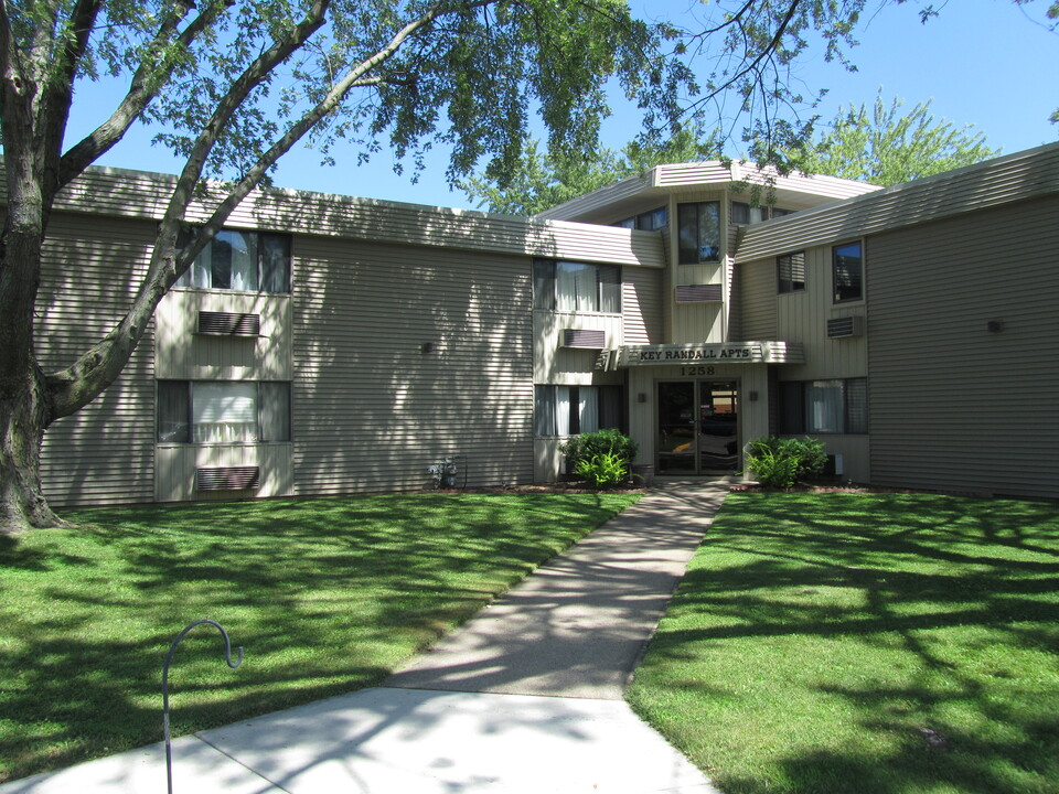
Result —
<path fill-rule="evenodd" d="M 717 794 L 622 693 L 724 501 L 662 480 L 381 687 L 173 742 L 189 794 Z M 164 792 L 164 745 L 0 794 Z"/>

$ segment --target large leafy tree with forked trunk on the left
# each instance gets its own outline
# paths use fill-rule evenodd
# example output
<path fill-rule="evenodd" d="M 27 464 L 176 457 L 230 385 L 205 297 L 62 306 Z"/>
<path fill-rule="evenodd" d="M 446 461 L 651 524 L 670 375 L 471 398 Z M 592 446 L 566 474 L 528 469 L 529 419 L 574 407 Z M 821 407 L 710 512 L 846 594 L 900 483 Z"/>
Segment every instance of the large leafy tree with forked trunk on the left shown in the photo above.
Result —
<path fill-rule="evenodd" d="M 539 109 L 553 152 L 592 150 L 617 78 L 646 120 L 675 119 L 689 83 L 662 25 L 623 0 L 6 0 L 0 2 L 0 530 L 61 523 L 41 490 L 43 433 L 103 393 L 167 290 L 269 169 L 310 137 L 421 161 L 451 144 L 450 180 L 509 174 Z M 64 149 L 79 79 L 127 79 L 106 121 Z M 137 120 L 184 159 L 147 273 L 115 328 L 45 372 L 33 319 L 55 198 Z M 229 181 L 184 222 L 204 176 Z"/>

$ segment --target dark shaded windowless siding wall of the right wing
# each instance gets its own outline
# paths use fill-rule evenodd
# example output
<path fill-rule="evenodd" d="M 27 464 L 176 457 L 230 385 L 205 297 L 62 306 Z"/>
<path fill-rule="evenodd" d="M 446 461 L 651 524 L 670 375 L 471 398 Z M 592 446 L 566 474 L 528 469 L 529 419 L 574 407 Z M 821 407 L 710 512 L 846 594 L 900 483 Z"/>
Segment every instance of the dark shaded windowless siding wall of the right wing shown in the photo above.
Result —
<path fill-rule="evenodd" d="M 876 483 L 1059 497 L 1057 250 L 1055 196 L 869 239 Z"/>

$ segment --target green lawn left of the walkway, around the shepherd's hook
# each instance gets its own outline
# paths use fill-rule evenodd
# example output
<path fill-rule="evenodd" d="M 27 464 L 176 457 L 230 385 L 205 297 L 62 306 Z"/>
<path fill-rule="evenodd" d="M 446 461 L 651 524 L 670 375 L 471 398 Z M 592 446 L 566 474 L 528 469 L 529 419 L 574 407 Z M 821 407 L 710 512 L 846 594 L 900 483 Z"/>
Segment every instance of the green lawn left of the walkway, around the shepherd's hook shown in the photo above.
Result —
<path fill-rule="evenodd" d="M 621 494 L 416 494 L 100 508 L 0 537 L 0 781 L 378 683 Z"/>

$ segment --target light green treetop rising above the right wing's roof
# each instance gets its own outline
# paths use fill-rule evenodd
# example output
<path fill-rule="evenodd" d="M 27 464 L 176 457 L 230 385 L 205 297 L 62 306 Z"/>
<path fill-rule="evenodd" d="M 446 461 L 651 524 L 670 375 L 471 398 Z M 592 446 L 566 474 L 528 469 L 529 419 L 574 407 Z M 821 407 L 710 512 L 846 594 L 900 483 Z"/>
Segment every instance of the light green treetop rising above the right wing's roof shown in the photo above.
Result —
<path fill-rule="evenodd" d="M 998 153 L 972 126 L 956 127 L 930 112 L 930 100 L 900 115 L 903 101 L 889 106 L 877 97 L 870 111 L 849 106 L 839 111 L 819 141 L 805 149 L 800 168 L 892 185 L 971 165 Z"/>

